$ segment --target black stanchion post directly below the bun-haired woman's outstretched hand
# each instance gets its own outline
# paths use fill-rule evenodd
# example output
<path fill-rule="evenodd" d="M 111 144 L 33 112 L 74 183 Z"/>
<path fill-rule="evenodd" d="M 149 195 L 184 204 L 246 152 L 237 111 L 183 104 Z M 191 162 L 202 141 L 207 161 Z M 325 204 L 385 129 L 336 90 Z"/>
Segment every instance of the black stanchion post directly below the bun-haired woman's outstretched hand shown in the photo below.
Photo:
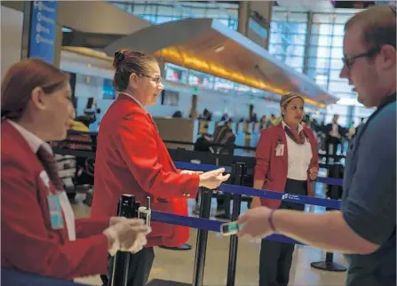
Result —
<path fill-rule="evenodd" d="M 201 203 L 200 218 L 210 218 L 210 202 L 212 191 L 205 187 L 200 187 Z M 208 231 L 197 230 L 197 242 L 195 246 L 195 269 L 193 273 L 192 286 L 202 286 L 204 281 L 205 254 L 207 251 Z"/>

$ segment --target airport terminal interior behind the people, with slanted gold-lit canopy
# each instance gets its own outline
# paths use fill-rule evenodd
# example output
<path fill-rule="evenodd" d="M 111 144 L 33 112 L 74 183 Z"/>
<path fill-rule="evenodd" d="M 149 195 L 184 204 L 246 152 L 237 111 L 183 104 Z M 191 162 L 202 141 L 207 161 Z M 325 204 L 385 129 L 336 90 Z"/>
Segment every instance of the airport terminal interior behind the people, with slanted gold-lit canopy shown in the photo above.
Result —
<path fill-rule="evenodd" d="M 90 216 L 95 163 L 73 151 L 80 147 L 95 151 L 101 119 L 117 97 L 112 85 L 115 51 L 147 52 L 158 60 L 164 90 L 147 111 L 174 161 L 222 166 L 226 163 L 218 156 L 236 156 L 247 162 L 250 171 L 244 186 L 252 187 L 251 162 L 260 132 L 280 123 L 281 96 L 299 92 L 306 100 L 303 123 L 317 139 L 319 176 L 330 177 L 334 165 L 343 168 L 355 130 L 374 112 L 363 107 L 352 86 L 339 77 L 344 65 L 345 22 L 370 5 L 390 2 L 59 1 L 54 19 L 45 16 L 52 10 L 50 4 L 32 2 L 30 9 L 39 9 L 40 16 L 31 21 L 36 28 L 30 33 L 36 33 L 36 43 L 52 46 L 52 63 L 70 75 L 75 122 L 83 126 L 75 131 L 86 132 L 81 139 L 89 143 L 57 146 L 62 151 L 57 154 L 60 177 L 75 216 Z M 25 49 L 27 7 L 23 1 L 1 2 L 2 79 Z M 337 124 L 340 131 L 333 150 L 328 150 L 325 142 L 330 124 Z M 234 148 L 216 147 L 220 141 L 214 133 L 224 126 L 234 135 Z M 334 150 L 336 154 L 332 154 Z M 230 166 L 233 161 L 225 162 Z M 335 178 L 342 179 L 341 174 Z M 323 199 L 330 198 L 330 190 L 337 188 L 334 199 L 340 199 L 341 187 L 323 182 L 315 182 L 313 187 L 314 196 Z M 197 203 L 192 197 L 187 201 L 189 216 L 199 217 L 200 200 Z M 230 221 L 232 205 L 230 197 L 218 192 L 212 198 L 210 219 Z M 250 196 L 243 196 L 241 212 L 249 207 Z M 306 211 L 327 210 L 306 204 Z M 192 284 L 196 234 L 197 229 L 191 228 L 187 250 L 155 247 L 148 285 Z M 226 285 L 229 241 L 229 237 L 209 232 L 202 285 Z M 260 242 L 239 240 L 234 285 L 258 285 L 259 251 Z M 342 271 L 311 266 L 326 258 Z M 344 285 L 344 266 L 339 253 L 330 258 L 323 250 L 297 245 L 288 285 Z M 102 285 L 99 275 L 75 282 Z"/>

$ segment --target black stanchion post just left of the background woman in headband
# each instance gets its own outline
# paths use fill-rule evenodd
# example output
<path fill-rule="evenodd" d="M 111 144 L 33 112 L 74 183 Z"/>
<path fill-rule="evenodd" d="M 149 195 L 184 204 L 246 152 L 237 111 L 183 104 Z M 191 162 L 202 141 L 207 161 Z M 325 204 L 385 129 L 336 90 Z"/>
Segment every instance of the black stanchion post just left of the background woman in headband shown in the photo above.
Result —
<path fill-rule="evenodd" d="M 234 163 L 232 165 L 233 184 L 235 186 L 242 186 L 244 183 L 244 177 L 247 173 L 247 166 L 245 163 Z M 242 195 L 233 195 L 233 212 L 232 221 L 236 220 L 241 211 L 242 206 Z M 230 237 L 229 243 L 229 261 L 227 265 L 227 286 L 234 286 L 235 281 L 235 269 L 237 264 L 237 250 L 238 250 L 238 238 L 237 235 Z"/>

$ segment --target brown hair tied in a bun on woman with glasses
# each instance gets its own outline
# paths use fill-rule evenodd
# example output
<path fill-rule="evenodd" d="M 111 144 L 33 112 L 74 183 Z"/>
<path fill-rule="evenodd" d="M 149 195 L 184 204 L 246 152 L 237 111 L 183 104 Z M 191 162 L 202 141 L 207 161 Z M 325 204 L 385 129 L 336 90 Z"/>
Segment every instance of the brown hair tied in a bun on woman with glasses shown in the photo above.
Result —
<path fill-rule="evenodd" d="M 130 75 L 148 75 L 148 64 L 157 62 L 154 57 L 143 53 L 133 52 L 130 50 L 120 50 L 115 52 L 113 68 L 115 68 L 115 77 L 113 87 L 116 91 L 125 91 L 130 83 Z"/>

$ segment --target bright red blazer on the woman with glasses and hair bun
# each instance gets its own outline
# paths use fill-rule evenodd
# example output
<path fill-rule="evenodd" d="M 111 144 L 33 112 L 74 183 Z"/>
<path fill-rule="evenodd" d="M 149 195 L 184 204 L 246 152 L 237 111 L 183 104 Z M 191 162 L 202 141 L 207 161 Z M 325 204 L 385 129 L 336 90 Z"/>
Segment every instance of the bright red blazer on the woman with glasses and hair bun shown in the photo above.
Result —
<path fill-rule="evenodd" d="M 138 103 L 120 94 L 102 118 L 95 158 L 91 216 L 115 216 L 121 195 L 135 195 L 152 209 L 187 216 L 187 197 L 195 197 L 198 175 L 179 174 L 155 123 Z M 152 222 L 147 246 L 179 246 L 189 237 L 184 226 Z"/>

